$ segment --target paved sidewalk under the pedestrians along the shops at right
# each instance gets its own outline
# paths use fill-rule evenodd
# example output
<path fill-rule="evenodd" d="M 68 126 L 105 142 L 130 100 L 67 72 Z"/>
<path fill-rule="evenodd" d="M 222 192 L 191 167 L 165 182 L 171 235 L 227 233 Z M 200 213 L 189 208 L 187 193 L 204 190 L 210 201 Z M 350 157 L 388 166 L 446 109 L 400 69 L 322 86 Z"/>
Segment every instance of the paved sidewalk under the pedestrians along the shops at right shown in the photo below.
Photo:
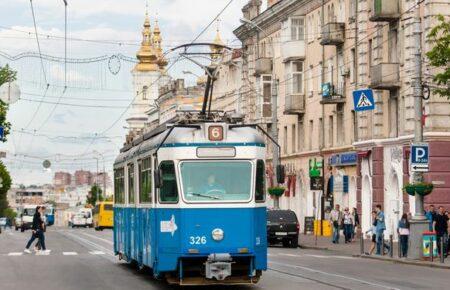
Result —
<path fill-rule="evenodd" d="M 364 253 L 369 251 L 371 245 L 371 240 L 364 240 Z M 344 237 L 341 236 L 339 244 L 333 244 L 331 242 L 331 237 L 320 237 L 314 235 L 300 235 L 299 237 L 299 246 L 303 249 L 315 249 L 315 250 L 324 250 L 330 251 L 336 255 L 347 255 L 353 257 L 360 257 L 365 259 L 376 259 L 386 262 L 393 263 L 401 263 L 401 264 L 409 264 L 416 266 L 425 266 L 425 267 L 434 267 L 434 268 L 442 268 L 442 269 L 450 269 L 450 257 L 445 259 L 445 263 L 440 263 L 439 258 L 435 258 L 434 262 L 430 261 L 417 261 L 417 260 L 408 260 L 405 258 L 398 257 L 398 245 L 394 243 L 394 255 L 391 258 L 388 255 L 385 256 L 377 256 L 377 255 L 361 255 L 361 245 L 360 240 L 357 239 L 355 242 L 346 244 L 344 242 Z"/>

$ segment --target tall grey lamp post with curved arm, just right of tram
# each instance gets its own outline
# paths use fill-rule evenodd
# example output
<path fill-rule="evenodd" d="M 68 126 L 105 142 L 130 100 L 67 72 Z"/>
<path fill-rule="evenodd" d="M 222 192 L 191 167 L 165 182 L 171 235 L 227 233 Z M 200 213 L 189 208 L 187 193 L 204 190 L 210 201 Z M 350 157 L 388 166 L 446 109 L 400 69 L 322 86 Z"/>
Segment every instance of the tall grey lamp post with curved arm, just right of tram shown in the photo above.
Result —
<path fill-rule="evenodd" d="M 254 28 L 256 28 L 258 31 L 260 31 L 264 37 L 269 39 L 269 35 L 260 27 L 258 26 L 255 22 L 248 20 L 246 18 L 241 18 L 240 19 L 242 24 L 248 24 Z M 272 138 L 273 140 L 275 140 L 278 143 L 278 116 L 277 116 L 277 109 L 278 109 L 278 80 L 275 79 L 275 46 L 273 43 L 273 40 L 270 42 L 270 46 L 272 48 L 272 96 L 271 96 L 271 101 L 272 101 L 272 106 L 271 106 L 271 110 L 272 110 Z M 257 57 L 259 57 L 259 33 L 256 34 L 256 47 L 257 47 Z M 277 176 L 276 176 L 276 170 L 278 165 L 280 164 L 280 152 L 279 152 L 279 148 L 274 144 L 272 146 L 273 150 L 272 150 L 272 165 L 275 171 L 274 174 L 274 184 L 278 184 L 277 181 Z M 275 197 L 274 198 L 274 207 L 275 208 L 279 208 L 279 198 Z"/>

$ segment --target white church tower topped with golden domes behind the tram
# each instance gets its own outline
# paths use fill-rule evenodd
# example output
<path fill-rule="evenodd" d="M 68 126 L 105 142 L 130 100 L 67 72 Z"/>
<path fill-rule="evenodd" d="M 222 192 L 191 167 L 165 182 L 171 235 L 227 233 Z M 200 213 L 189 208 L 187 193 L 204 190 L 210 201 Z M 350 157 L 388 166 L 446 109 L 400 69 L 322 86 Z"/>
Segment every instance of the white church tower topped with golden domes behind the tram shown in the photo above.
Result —
<path fill-rule="evenodd" d="M 148 122 L 148 112 L 155 107 L 159 87 L 166 80 L 164 58 L 161 46 L 161 31 L 156 22 L 152 32 L 148 12 L 145 13 L 141 47 L 136 53 L 138 63 L 131 71 L 133 75 L 133 103 L 127 123 L 130 132 L 137 133 Z"/>

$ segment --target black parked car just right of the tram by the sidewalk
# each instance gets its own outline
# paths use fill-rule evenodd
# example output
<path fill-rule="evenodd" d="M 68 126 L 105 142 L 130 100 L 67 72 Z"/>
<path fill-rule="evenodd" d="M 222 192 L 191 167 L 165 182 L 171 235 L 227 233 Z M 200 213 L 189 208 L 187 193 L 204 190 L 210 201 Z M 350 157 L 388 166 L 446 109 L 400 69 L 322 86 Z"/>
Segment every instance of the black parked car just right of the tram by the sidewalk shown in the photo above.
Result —
<path fill-rule="evenodd" d="M 267 241 L 269 245 L 282 243 L 283 247 L 298 247 L 300 224 L 292 210 L 267 211 Z"/>

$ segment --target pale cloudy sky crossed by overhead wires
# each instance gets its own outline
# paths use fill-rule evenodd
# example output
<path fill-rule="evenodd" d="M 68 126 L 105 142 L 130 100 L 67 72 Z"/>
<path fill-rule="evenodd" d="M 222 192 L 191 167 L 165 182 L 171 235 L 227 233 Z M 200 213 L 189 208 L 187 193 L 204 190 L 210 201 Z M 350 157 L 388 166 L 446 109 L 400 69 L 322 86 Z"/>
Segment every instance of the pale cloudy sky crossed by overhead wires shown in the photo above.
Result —
<path fill-rule="evenodd" d="M 192 41 L 228 2 L 150 0 L 148 13 L 152 25 L 158 19 L 163 49 L 168 50 Z M 234 0 L 198 41 L 212 42 L 219 28 L 226 44 L 239 47 L 233 30 L 246 2 Z M 0 144 L 7 152 L 3 161 L 13 183 L 51 183 L 55 171 L 95 171 L 97 163 L 111 173 L 127 132 L 127 107 L 134 96 L 130 70 L 141 41 L 146 1 L 68 0 L 67 57 L 78 63 L 67 66 L 62 61 L 63 0 L 33 1 L 33 10 L 41 53 L 51 56 L 42 63 L 35 57 L 39 50 L 30 1 L 0 1 L 0 66 L 9 64 L 17 71 L 21 89 L 21 99 L 8 112 L 12 134 Z M 183 75 L 185 70 L 202 74 L 195 65 L 180 61 L 169 75 L 193 83 L 192 75 Z M 44 170 L 46 159 L 52 166 Z"/>

